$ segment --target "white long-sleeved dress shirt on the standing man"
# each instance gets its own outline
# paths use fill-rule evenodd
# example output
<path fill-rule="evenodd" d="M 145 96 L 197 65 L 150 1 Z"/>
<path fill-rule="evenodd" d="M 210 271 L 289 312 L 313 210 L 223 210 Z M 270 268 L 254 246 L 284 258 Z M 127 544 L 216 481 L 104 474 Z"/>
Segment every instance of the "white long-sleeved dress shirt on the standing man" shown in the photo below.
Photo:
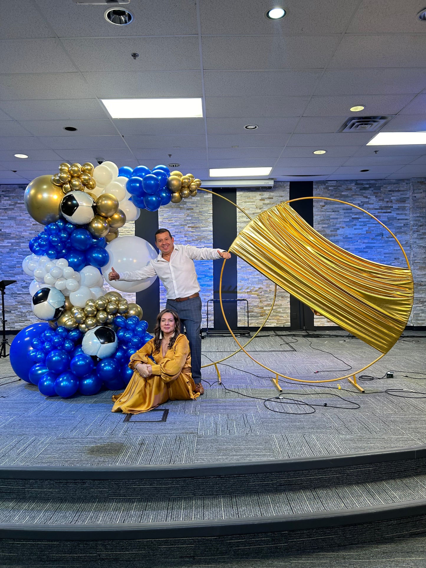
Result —
<path fill-rule="evenodd" d="M 162 253 L 141 270 L 120 272 L 120 280 L 135 282 L 157 275 L 166 289 L 166 298 L 187 298 L 200 291 L 195 273 L 194 260 L 216 260 L 223 249 L 197 248 L 192 245 L 174 245 L 170 261 L 164 260 Z"/>

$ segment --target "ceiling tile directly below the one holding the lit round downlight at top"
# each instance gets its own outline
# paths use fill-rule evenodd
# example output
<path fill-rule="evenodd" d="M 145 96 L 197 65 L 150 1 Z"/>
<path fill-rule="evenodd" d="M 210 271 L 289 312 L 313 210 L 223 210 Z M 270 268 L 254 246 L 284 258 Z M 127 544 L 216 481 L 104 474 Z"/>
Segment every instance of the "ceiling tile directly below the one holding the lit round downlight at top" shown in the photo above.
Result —
<path fill-rule="evenodd" d="M 339 36 L 203 36 L 204 69 L 323 68 Z"/>

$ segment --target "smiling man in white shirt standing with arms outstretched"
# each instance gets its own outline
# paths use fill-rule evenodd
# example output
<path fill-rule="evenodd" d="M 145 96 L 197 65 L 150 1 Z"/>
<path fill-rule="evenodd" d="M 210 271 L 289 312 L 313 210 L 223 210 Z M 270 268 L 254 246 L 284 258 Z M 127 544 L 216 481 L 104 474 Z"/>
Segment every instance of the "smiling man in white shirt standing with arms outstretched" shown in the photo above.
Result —
<path fill-rule="evenodd" d="M 194 260 L 231 258 L 231 254 L 223 249 L 175 245 L 168 229 L 158 229 L 155 233 L 155 244 L 160 253 L 145 268 L 118 273 L 112 266 L 108 277 L 110 281 L 126 280 L 128 282 L 156 275 L 160 278 L 166 289 L 166 309 L 176 311 L 182 324 L 185 325 L 186 336 L 191 349 L 195 391 L 203 394 L 204 389 L 201 384 L 201 298 Z"/>

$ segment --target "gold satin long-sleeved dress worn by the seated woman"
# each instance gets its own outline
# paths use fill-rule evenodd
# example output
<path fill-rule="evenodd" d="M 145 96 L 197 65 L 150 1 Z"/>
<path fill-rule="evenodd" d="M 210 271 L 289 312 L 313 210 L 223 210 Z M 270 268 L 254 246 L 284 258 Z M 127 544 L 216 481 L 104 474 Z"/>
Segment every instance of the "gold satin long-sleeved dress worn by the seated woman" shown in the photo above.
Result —
<path fill-rule="evenodd" d="M 191 375 L 191 353 L 189 342 L 182 333 L 177 336 L 165 357 L 162 349 L 153 353 L 154 340 L 151 339 L 143 348 L 130 358 L 129 367 L 133 373 L 126 390 L 112 396 L 115 403 L 112 412 L 140 414 L 148 412 L 168 400 L 194 400 L 199 392 L 194 392 L 195 383 Z M 148 358 L 152 356 L 155 364 Z M 135 370 L 138 363 L 152 365 L 152 375 L 144 378 Z"/>

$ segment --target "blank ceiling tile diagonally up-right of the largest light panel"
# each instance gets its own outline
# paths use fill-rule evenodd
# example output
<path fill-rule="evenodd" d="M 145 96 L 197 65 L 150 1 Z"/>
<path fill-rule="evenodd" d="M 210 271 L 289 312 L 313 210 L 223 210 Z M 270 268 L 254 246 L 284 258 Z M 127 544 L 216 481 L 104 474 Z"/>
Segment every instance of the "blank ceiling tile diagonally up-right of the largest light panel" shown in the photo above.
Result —
<path fill-rule="evenodd" d="M 244 97 L 247 93 L 263 97 L 311 95 L 321 71 L 319 69 L 238 71 L 206 70 L 204 87 L 207 97 Z"/>

